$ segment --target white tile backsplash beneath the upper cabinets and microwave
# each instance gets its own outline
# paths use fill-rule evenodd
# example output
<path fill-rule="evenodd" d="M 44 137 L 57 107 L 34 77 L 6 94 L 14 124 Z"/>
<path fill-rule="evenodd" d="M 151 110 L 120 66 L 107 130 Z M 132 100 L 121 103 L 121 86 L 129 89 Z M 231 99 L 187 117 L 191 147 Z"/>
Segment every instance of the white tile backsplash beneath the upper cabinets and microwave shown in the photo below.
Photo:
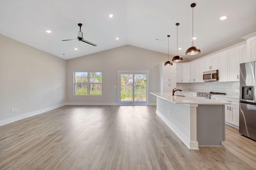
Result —
<path fill-rule="evenodd" d="M 177 83 L 177 88 L 195 92 L 221 92 L 239 95 L 239 82 Z"/>

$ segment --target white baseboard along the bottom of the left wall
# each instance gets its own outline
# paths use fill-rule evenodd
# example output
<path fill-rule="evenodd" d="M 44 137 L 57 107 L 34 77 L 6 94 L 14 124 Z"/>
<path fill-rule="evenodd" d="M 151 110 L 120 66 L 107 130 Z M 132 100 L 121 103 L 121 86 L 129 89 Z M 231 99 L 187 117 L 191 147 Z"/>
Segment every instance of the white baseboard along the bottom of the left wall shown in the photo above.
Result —
<path fill-rule="evenodd" d="M 59 104 L 59 105 L 56 105 L 56 106 L 47 107 L 45 109 L 40 109 L 40 110 L 32 111 L 30 113 L 26 113 L 26 114 L 19 115 L 19 116 L 16 116 L 16 117 L 11 117 L 9 119 L 4 119 L 4 120 L 0 121 L 0 126 L 6 125 L 8 123 L 12 123 L 14 121 L 18 121 L 18 120 L 21 120 L 21 119 L 24 119 L 24 118 L 27 118 L 27 117 L 30 117 L 30 116 L 38 115 L 40 113 L 44 113 L 46 111 L 49 111 L 49 110 L 52 110 L 52 109 L 56 109 L 56 108 L 59 108 L 59 107 L 62 107 L 62 106 L 66 106 L 66 105 L 67 105 L 67 103 L 63 103 L 63 104 Z"/>

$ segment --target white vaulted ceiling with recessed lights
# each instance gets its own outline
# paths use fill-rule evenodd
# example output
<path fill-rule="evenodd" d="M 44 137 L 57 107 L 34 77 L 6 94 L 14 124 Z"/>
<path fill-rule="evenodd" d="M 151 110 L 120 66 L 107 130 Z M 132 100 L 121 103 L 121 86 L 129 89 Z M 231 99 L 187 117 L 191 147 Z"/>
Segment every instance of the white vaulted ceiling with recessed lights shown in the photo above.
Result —
<path fill-rule="evenodd" d="M 192 42 L 194 7 L 195 46 L 201 53 L 186 56 Z M 113 14 L 113 18 L 108 15 Z M 220 16 L 227 16 L 220 20 Z M 78 36 L 82 41 L 61 41 Z M 256 31 L 256 0 L 1 0 L 0 34 L 63 59 L 72 59 L 123 45 L 193 60 L 244 41 Z M 50 29 L 52 33 L 46 33 Z M 119 37 L 119 40 L 116 40 Z M 160 39 L 162 41 L 156 40 Z M 78 48 L 77 51 L 74 48 Z M 65 55 L 63 55 L 65 54 Z M 167 57 L 167 56 L 166 56 Z"/>

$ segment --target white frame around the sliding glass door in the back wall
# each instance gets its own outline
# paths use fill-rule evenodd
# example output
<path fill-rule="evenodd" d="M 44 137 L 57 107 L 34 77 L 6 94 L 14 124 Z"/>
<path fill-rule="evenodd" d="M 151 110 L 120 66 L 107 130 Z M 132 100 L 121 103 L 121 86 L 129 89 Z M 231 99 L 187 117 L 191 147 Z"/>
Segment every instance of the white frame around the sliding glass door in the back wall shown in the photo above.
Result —
<path fill-rule="evenodd" d="M 147 74 L 147 88 L 146 88 L 146 104 L 126 104 L 126 105 L 148 105 L 148 96 L 149 96 L 149 70 L 118 70 L 118 104 L 121 105 L 121 84 L 120 78 L 121 74 Z"/>

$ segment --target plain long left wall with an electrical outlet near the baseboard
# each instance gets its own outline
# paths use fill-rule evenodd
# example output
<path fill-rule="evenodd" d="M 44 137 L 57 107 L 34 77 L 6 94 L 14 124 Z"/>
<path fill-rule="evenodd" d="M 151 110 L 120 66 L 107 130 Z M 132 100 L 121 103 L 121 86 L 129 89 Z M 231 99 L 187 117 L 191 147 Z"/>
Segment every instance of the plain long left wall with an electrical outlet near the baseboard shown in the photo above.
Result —
<path fill-rule="evenodd" d="M 65 104 L 66 60 L 0 34 L 0 125 Z"/>

